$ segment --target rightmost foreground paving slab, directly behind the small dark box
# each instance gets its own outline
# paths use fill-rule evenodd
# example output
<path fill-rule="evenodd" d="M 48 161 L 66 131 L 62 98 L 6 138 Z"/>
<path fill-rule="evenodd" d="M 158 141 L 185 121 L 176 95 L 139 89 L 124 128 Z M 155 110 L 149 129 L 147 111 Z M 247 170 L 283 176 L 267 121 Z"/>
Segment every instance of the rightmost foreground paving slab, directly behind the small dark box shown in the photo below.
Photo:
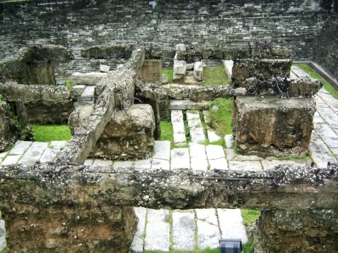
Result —
<path fill-rule="evenodd" d="M 241 239 L 243 244 L 248 242 L 246 228 L 243 225 L 241 217 L 241 210 L 217 209 L 217 213 L 222 238 Z"/>

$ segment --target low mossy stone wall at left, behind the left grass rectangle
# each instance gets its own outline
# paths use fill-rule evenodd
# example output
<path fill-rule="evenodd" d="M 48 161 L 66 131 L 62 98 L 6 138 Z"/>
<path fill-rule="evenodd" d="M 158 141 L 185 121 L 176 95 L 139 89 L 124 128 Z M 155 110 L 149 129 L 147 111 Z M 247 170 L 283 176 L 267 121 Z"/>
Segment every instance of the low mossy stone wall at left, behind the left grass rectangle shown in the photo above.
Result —
<path fill-rule="evenodd" d="M 74 110 L 77 95 L 67 87 L 0 83 L 0 94 L 10 102 L 20 101 L 32 124 L 64 124 Z"/>

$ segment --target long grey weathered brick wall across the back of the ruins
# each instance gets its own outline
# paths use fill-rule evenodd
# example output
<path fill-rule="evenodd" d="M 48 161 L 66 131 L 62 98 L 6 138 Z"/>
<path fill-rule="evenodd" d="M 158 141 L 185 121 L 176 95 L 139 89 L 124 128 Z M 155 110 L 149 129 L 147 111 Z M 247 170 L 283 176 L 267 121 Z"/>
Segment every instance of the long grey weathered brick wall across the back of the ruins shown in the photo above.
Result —
<path fill-rule="evenodd" d="M 155 7 L 148 0 L 1 3 L 0 55 L 12 56 L 23 43 L 54 43 L 67 46 L 78 60 L 84 47 L 137 40 L 163 50 L 163 63 L 169 64 L 177 43 L 243 47 L 257 38 L 286 46 L 297 58 L 311 58 L 326 12 L 321 1 L 157 0 Z M 73 63 L 76 72 L 100 61 Z"/>

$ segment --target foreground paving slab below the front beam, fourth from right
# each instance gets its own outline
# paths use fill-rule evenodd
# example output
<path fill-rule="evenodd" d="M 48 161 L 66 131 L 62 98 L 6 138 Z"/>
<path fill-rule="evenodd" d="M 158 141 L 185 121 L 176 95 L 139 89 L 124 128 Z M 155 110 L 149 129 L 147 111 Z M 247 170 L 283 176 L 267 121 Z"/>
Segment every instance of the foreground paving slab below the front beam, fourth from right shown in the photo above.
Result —
<path fill-rule="evenodd" d="M 148 209 L 144 250 L 168 252 L 170 250 L 170 217 L 165 209 Z"/>

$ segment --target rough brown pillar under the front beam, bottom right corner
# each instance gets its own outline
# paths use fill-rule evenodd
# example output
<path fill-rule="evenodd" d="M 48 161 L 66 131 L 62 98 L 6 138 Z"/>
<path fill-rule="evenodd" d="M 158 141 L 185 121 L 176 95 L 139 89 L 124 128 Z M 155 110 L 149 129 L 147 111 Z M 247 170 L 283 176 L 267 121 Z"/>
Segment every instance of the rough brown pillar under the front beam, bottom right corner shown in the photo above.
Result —
<path fill-rule="evenodd" d="M 255 253 L 338 252 L 338 210 L 264 210 Z"/>

